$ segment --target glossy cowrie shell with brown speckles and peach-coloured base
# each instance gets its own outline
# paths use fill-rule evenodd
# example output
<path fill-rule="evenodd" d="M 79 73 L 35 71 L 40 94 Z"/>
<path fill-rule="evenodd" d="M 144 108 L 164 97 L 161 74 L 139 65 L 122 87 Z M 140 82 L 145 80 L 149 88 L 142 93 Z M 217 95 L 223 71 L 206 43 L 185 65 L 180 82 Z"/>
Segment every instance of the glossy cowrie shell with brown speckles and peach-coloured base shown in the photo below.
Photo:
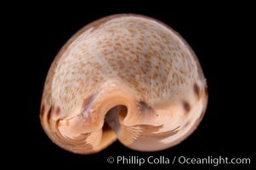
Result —
<path fill-rule="evenodd" d="M 177 32 L 137 14 L 96 20 L 65 43 L 48 71 L 41 123 L 65 150 L 99 152 L 117 139 L 164 150 L 201 122 L 208 90 Z"/>

